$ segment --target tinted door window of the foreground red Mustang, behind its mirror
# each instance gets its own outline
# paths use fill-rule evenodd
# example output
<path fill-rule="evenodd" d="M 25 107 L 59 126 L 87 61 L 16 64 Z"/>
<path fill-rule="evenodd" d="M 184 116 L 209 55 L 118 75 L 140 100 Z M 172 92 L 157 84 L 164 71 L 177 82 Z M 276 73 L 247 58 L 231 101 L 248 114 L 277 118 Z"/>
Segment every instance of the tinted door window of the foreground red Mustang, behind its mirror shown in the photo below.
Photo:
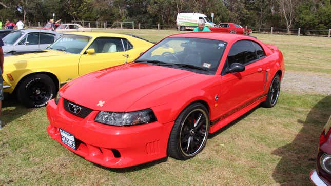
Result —
<path fill-rule="evenodd" d="M 233 63 L 247 64 L 257 59 L 255 47 L 249 40 L 240 40 L 232 45 L 227 56 L 228 66 Z"/>

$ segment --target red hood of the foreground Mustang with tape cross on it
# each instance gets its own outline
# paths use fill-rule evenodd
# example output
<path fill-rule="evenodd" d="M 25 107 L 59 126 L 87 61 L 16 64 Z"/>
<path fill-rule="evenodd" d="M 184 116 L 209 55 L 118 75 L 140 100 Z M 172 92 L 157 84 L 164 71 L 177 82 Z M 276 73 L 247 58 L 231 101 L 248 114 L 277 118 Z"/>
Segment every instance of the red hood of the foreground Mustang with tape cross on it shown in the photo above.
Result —
<path fill-rule="evenodd" d="M 125 112 L 149 93 L 194 74 L 157 65 L 129 63 L 77 78 L 65 85 L 60 94 L 64 99 L 93 110 Z M 149 107 L 152 106 L 146 105 Z"/>

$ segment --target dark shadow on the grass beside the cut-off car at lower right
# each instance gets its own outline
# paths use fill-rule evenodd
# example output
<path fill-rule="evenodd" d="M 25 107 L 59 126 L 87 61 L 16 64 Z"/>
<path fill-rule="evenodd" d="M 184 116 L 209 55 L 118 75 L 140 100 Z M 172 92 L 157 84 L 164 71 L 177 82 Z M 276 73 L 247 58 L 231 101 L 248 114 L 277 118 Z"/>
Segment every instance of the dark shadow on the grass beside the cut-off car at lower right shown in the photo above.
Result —
<path fill-rule="evenodd" d="M 316 167 L 319 137 L 330 114 L 331 95 L 321 99 L 310 110 L 305 121 L 298 119 L 303 127 L 296 138 L 272 152 L 281 157 L 272 173 L 276 182 L 281 185 L 309 183 L 309 173 Z"/>

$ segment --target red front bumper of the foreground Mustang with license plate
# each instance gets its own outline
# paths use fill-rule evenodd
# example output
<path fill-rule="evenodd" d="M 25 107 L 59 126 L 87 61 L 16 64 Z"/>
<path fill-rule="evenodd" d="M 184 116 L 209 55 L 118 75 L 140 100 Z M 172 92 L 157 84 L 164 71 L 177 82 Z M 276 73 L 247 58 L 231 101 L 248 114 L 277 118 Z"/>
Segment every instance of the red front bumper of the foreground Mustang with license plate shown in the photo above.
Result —
<path fill-rule="evenodd" d="M 52 139 L 86 160 L 110 168 L 124 168 L 161 159 L 167 156 L 167 144 L 173 122 L 153 122 L 137 126 L 116 127 L 94 122 L 98 111 L 80 118 L 64 110 L 63 99 L 59 107 L 54 99 L 47 105 Z M 60 131 L 74 135 L 77 149 L 62 143 Z"/>

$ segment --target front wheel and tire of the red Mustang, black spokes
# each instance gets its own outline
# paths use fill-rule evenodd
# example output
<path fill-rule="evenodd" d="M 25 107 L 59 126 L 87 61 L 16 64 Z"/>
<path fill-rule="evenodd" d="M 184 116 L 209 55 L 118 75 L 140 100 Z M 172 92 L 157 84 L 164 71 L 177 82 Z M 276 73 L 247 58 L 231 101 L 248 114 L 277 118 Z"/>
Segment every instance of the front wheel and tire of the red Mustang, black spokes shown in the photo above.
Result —
<path fill-rule="evenodd" d="M 207 108 L 195 103 L 188 106 L 174 122 L 168 142 L 168 155 L 186 160 L 200 153 L 209 134 Z"/>

